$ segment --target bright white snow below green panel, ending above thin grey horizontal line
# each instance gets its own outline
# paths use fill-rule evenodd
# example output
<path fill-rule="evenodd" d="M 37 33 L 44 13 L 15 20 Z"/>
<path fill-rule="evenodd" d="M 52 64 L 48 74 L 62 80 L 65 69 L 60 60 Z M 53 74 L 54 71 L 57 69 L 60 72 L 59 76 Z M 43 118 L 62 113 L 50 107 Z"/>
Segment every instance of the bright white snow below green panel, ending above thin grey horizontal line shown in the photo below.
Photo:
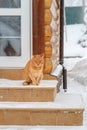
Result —
<path fill-rule="evenodd" d="M 87 57 L 87 48 L 83 48 L 78 41 L 83 36 L 83 24 L 68 25 L 67 41 L 64 37 L 64 56 L 65 57 Z M 66 32 L 66 31 L 65 31 Z"/>

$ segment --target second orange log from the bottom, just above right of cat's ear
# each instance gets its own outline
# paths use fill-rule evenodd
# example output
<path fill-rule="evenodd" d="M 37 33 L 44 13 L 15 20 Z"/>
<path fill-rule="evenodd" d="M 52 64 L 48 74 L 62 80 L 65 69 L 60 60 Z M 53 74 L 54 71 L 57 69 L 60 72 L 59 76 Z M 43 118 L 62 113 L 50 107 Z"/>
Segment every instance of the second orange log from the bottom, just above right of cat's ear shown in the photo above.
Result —
<path fill-rule="evenodd" d="M 45 43 L 45 57 L 50 58 L 52 56 L 52 44 L 50 42 Z"/>

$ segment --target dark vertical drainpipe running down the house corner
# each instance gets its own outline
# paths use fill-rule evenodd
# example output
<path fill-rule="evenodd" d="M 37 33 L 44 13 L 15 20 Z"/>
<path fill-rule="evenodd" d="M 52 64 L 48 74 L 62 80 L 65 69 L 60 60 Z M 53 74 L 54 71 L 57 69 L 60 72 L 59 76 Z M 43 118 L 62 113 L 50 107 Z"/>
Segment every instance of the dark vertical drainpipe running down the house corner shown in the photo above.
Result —
<path fill-rule="evenodd" d="M 64 64 L 64 0 L 60 0 L 60 64 L 63 67 L 63 89 L 67 91 L 67 70 Z"/>

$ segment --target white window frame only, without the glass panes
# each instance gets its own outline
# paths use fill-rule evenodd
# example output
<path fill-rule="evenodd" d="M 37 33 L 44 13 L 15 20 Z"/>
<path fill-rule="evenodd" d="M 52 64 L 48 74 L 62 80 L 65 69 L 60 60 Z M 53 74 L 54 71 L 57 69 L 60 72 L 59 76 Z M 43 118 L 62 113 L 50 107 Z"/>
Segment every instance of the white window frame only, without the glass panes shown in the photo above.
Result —
<path fill-rule="evenodd" d="M 21 8 L 0 8 L 0 16 L 21 16 L 21 56 L 0 56 L 0 68 L 24 68 L 31 58 L 32 0 L 21 0 Z"/>

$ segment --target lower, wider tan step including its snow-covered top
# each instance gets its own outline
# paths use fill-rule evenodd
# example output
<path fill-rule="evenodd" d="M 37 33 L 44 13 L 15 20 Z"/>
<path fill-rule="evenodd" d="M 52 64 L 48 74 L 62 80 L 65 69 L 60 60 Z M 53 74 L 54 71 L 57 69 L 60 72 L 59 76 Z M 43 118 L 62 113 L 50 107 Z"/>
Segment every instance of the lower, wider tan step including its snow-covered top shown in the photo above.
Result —
<path fill-rule="evenodd" d="M 0 102 L 0 125 L 82 125 L 79 94 L 58 94 L 55 102 Z"/>

